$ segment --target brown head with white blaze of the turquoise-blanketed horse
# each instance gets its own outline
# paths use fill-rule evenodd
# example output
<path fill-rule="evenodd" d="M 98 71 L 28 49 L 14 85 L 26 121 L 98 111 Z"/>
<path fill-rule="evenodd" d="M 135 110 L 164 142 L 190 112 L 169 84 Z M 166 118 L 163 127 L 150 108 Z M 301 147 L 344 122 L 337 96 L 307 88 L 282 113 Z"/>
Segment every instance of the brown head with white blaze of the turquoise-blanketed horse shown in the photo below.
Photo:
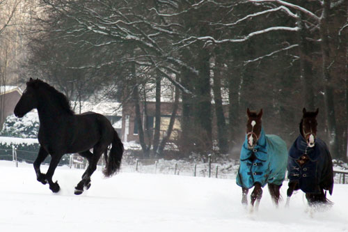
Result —
<path fill-rule="evenodd" d="M 261 128 L 262 128 L 262 109 L 257 113 L 256 111 L 250 111 L 249 108 L 246 109 L 246 114 L 248 115 L 248 122 L 246 123 L 246 137 L 248 139 L 248 149 L 253 149 L 258 143 L 260 138 Z"/>

